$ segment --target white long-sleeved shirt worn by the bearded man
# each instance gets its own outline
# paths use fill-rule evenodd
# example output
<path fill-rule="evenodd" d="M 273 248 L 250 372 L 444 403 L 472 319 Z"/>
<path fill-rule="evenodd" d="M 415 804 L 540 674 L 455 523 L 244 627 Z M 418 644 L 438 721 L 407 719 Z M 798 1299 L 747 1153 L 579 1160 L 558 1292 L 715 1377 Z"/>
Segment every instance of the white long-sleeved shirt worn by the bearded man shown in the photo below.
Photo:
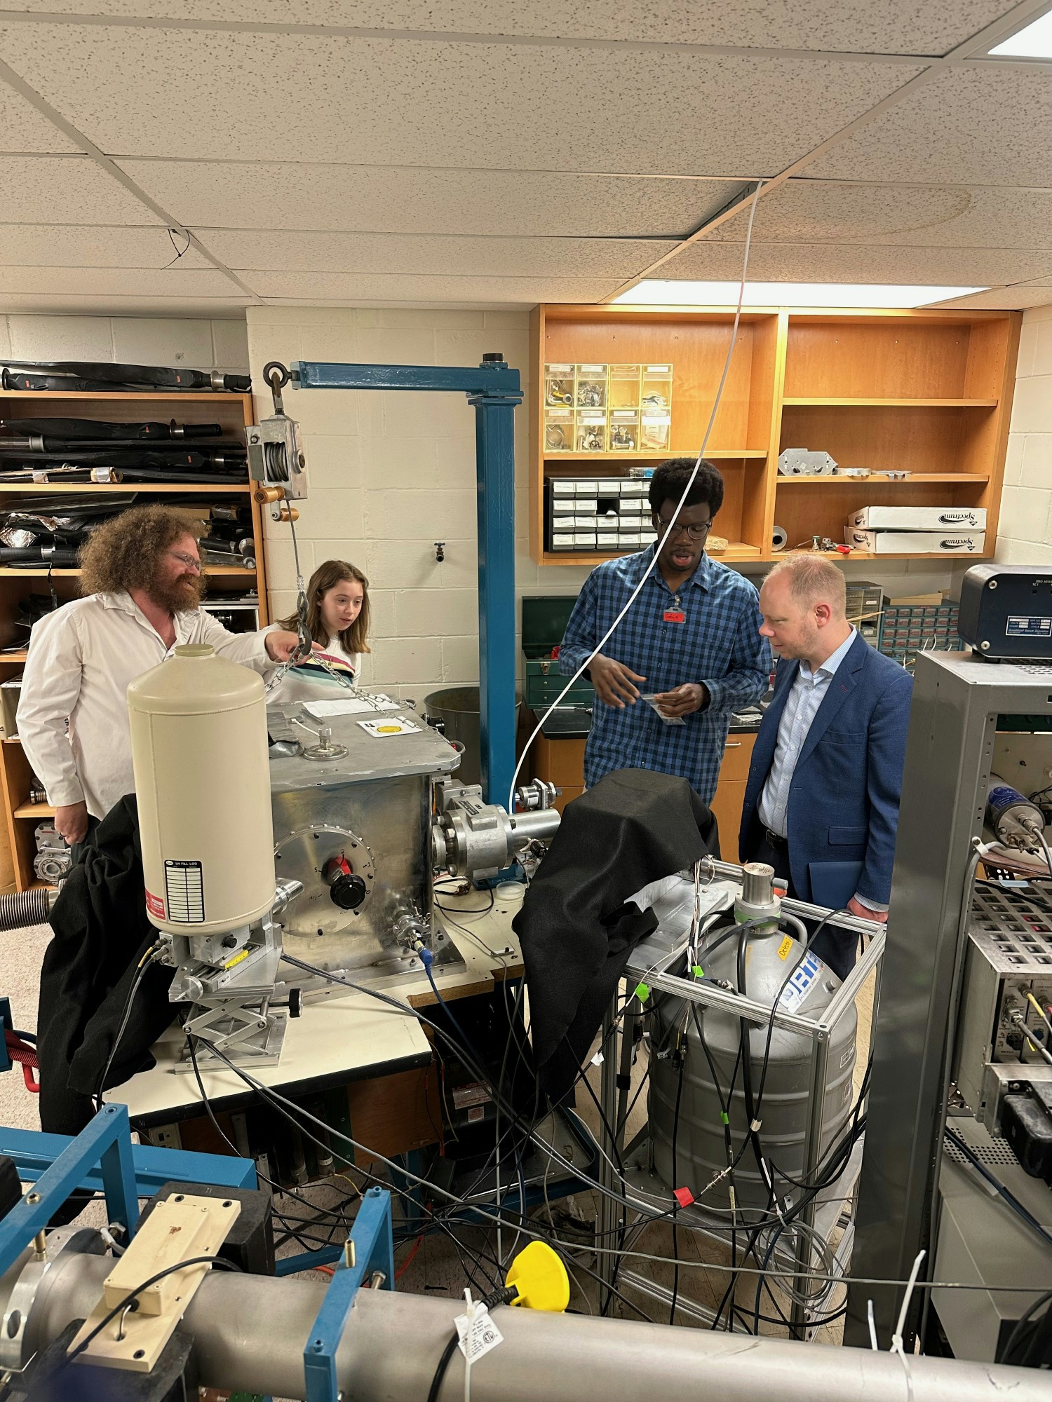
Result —
<path fill-rule="evenodd" d="M 264 674 L 276 666 L 259 632 L 227 632 L 201 608 L 174 617 L 171 648 L 126 593 L 76 599 L 34 627 L 18 735 L 49 803 L 84 801 L 104 817 L 135 792 L 128 687 L 181 644 L 208 642 Z"/>

